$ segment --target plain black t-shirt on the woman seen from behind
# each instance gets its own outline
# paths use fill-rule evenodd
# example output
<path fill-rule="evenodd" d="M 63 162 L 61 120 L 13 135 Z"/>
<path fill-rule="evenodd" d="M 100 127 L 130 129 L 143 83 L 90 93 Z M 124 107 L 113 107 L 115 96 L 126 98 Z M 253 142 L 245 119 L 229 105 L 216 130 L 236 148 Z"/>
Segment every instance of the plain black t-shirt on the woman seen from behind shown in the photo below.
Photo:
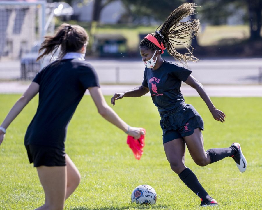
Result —
<path fill-rule="evenodd" d="M 86 89 L 99 87 L 98 76 L 88 62 L 66 59 L 43 68 L 33 82 L 40 85 L 39 103 L 24 144 L 64 149 L 67 125 Z"/>

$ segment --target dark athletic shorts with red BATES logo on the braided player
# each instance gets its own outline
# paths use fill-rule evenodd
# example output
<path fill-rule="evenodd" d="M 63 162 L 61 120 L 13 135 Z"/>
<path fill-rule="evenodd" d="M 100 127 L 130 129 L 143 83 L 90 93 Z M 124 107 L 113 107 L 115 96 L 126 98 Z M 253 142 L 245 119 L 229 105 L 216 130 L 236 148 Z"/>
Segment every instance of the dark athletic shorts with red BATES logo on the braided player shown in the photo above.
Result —
<path fill-rule="evenodd" d="M 190 136 L 194 129 L 204 130 L 204 122 L 197 110 L 187 104 L 180 111 L 168 116 L 161 115 L 160 126 L 163 130 L 163 144 L 173 139 Z"/>

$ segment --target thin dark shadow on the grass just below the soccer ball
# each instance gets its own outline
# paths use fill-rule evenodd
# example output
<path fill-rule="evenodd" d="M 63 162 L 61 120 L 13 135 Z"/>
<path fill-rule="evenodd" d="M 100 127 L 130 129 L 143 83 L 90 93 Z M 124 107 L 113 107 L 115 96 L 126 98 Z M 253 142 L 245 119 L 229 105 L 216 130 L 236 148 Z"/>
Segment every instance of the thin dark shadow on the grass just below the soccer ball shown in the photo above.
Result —
<path fill-rule="evenodd" d="M 130 205 L 130 206 L 122 206 L 122 207 L 95 207 L 95 208 L 91 208 L 91 207 L 85 207 L 85 206 L 79 206 L 79 207 L 75 207 L 73 209 L 70 210 L 124 210 L 124 209 L 131 209 L 134 206 Z M 135 209 L 165 209 L 167 208 L 167 205 L 153 205 L 153 206 L 135 206 Z"/>

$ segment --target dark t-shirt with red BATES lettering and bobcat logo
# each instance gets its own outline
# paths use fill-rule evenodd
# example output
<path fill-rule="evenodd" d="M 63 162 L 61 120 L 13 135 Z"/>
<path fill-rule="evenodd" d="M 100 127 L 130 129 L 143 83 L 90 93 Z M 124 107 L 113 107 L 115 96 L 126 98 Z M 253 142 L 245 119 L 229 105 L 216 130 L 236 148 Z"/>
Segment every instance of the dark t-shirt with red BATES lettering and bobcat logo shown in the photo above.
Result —
<path fill-rule="evenodd" d="M 169 113 L 184 104 L 180 91 L 192 71 L 172 62 L 164 63 L 156 70 L 145 68 L 142 85 L 149 88 L 153 103 L 159 113 Z"/>

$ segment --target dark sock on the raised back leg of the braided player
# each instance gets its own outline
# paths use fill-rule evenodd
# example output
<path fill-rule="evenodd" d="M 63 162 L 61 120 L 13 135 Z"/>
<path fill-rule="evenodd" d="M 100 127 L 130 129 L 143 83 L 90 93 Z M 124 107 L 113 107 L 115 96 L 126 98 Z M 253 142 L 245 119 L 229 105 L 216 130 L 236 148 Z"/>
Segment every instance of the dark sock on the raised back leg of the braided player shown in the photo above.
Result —
<path fill-rule="evenodd" d="M 235 155 L 236 152 L 236 149 L 233 147 L 215 148 L 206 151 L 206 153 L 210 156 L 210 163 L 217 162 L 225 157 L 231 157 L 232 155 Z"/>

